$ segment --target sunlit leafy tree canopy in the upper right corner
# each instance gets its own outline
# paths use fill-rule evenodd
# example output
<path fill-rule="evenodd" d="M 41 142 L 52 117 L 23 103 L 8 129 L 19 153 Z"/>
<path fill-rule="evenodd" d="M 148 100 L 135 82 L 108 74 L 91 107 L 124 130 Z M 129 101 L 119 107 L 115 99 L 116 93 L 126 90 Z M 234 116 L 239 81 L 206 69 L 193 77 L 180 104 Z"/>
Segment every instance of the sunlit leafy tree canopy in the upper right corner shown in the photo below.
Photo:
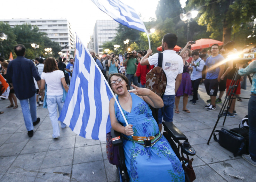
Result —
<path fill-rule="evenodd" d="M 253 22 L 256 1 L 252 0 L 190 0 L 186 9 L 200 7 L 199 25 L 207 25 L 210 38 L 222 36 L 224 43 L 231 40 L 232 31 L 239 31 L 241 23 Z"/>

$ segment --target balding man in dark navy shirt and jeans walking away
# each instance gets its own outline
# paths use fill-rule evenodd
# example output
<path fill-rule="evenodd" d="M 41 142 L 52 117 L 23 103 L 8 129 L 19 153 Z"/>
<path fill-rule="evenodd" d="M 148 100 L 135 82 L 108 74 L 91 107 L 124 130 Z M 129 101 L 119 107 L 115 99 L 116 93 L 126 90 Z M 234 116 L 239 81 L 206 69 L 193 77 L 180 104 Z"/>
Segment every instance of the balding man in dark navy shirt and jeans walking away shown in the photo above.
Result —
<path fill-rule="evenodd" d="M 37 118 L 35 100 L 37 89 L 35 88 L 33 77 L 37 81 L 39 88 L 41 78 L 33 61 L 24 57 L 26 48 L 18 44 L 15 46 L 14 51 L 17 58 L 10 61 L 8 65 L 7 81 L 13 86 L 16 97 L 21 103 L 27 134 L 32 137 L 34 126 L 40 122 L 40 118 Z"/>

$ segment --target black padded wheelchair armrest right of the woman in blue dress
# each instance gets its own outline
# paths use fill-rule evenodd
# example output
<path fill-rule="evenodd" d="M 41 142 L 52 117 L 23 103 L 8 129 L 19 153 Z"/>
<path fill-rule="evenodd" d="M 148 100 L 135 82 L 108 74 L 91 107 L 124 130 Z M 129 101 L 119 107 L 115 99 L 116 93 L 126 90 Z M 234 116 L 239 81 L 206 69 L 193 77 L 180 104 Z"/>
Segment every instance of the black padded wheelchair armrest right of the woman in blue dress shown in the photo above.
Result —
<path fill-rule="evenodd" d="M 171 137 L 176 140 L 185 140 L 186 136 L 179 130 L 173 122 L 162 122 L 164 130 L 171 135 Z"/>

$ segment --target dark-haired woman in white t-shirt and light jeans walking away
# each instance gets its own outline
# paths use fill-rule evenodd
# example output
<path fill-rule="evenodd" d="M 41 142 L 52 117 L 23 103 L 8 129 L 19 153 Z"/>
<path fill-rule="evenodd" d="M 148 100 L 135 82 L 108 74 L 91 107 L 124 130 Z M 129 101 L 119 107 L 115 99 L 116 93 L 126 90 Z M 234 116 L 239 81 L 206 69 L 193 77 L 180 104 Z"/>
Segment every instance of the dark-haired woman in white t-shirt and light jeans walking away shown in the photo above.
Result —
<path fill-rule="evenodd" d="M 43 90 L 45 89 L 45 83 L 47 84 L 46 102 L 51 124 L 53 125 L 53 138 L 59 138 L 57 106 L 59 114 L 61 114 L 64 105 L 63 88 L 67 92 L 69 87 L 66 84 L 63 71 L 58 69 L 57 61 L 54 58 L 46 59 L 41 79 L 40 94 L 43 93 Z M 61 122 L 61 127 L 65 128 L 66 125 Z"/>

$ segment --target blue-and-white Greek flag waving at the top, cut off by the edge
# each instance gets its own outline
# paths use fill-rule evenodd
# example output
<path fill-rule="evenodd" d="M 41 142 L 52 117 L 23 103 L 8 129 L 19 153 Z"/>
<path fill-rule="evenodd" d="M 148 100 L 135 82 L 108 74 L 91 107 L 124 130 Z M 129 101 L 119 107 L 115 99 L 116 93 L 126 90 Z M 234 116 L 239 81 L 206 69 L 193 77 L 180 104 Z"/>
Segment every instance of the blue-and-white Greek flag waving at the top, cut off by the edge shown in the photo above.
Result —
<path fill-rule="evenodd" d="M 147 33 L 146 27 L 136 11 L 132 7 L 122 3 L 120 0 L 91 1 L 118 23 Z"/>

